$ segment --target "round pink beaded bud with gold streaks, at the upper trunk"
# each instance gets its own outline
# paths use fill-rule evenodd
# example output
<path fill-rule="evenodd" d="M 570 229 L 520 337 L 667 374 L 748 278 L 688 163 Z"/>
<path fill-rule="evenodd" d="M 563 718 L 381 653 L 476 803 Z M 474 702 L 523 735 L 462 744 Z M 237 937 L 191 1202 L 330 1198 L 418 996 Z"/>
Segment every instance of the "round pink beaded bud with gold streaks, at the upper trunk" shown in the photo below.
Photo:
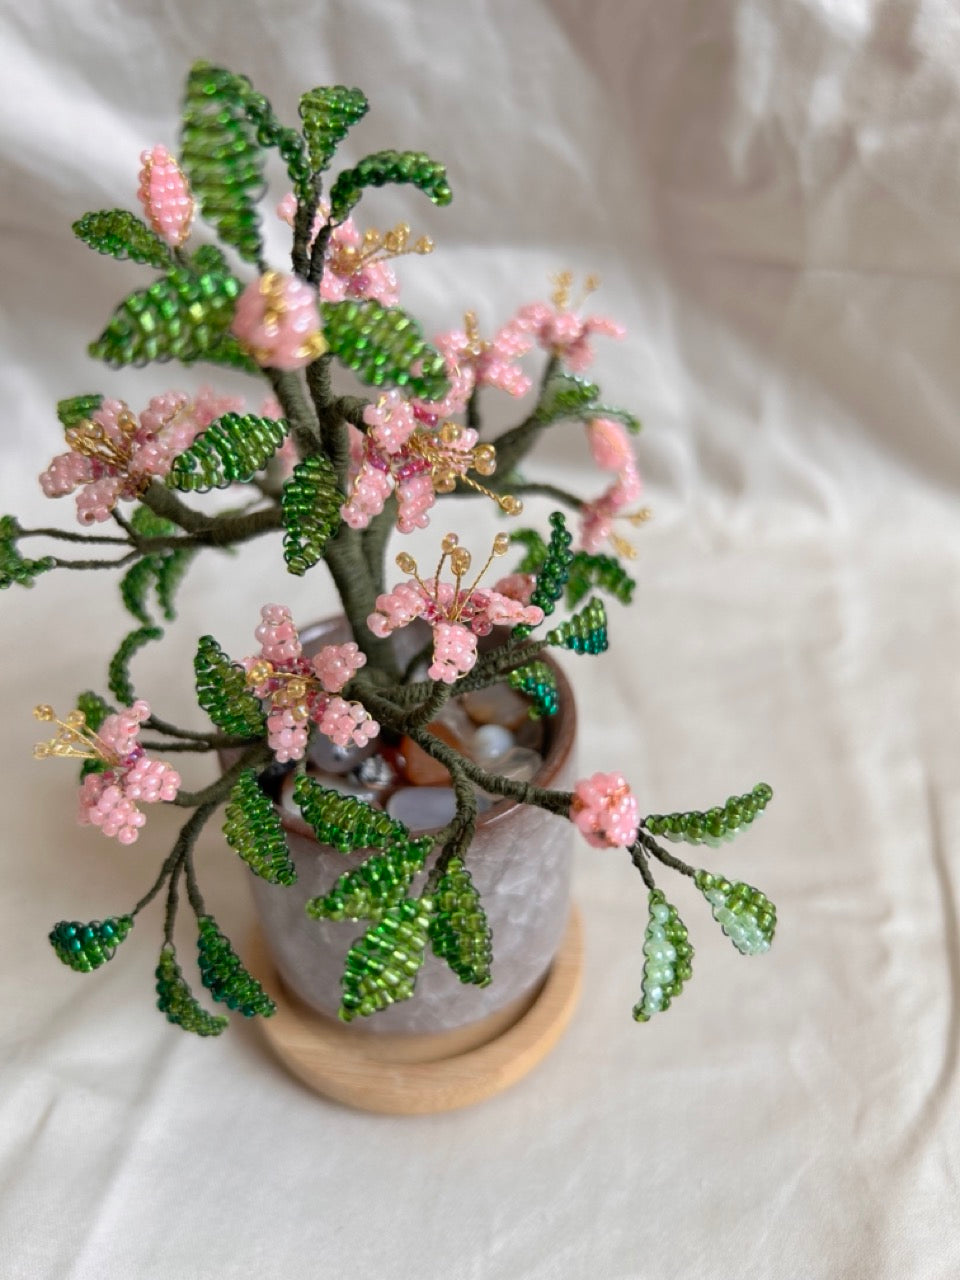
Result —
<path fill-rule="evenodd" d="M 270 369 L 302 369 L 326 351 L 316 289 L 283 271 L 251 280 L 237 298 L 230 332 Z"/>

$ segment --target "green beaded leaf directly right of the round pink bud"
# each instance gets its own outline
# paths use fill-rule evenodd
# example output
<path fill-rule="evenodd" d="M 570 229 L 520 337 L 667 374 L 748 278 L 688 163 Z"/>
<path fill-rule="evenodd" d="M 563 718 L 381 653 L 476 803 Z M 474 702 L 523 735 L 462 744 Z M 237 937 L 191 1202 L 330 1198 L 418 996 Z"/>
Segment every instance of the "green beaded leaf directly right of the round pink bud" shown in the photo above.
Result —
<path fill-rule="evenodd" d="M 404 387 L 422 399 L 447 393 L 443 356 L 428 342 L 412 316 L 372 298 L 321 302 L 324 338 L 330 353 L 369 387 Z"/>

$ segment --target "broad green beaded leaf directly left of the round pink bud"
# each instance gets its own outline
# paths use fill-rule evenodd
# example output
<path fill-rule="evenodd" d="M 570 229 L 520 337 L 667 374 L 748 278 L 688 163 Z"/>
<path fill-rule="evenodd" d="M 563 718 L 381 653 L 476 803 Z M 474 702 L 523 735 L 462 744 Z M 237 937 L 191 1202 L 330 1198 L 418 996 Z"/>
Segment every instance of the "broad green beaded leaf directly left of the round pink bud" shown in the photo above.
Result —
<path fill-rule="evenodd" d="M 207 360 L 256 370 L 228 332 L 239 289 L 239 282 L 219 268 L 201 274 L 172 268 L 119 303 L 106 329 L 90 344 L 90 355 L 115 369 L 151 360 L 184 365 Z"/>

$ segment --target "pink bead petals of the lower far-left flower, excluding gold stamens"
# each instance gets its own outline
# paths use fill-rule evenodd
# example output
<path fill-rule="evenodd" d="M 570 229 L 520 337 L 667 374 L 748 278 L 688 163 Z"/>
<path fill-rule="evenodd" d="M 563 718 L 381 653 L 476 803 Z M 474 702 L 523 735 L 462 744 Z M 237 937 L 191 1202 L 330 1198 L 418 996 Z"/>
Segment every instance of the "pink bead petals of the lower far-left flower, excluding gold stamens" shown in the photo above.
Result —
<path fill-rule="evenodd" d="M 81 783 L 78 820 L 100 827 L 122 845 L 132 845 L 146 822 L 138 804 L 174 800 L 180 788 L 179 773 L 163 760 L 151 760 L 137 742 L 148 716 L 150 705 L 142 699 L 108 716 L 97 736 L 118 763 L 104 773 L 88 773 Z"/>

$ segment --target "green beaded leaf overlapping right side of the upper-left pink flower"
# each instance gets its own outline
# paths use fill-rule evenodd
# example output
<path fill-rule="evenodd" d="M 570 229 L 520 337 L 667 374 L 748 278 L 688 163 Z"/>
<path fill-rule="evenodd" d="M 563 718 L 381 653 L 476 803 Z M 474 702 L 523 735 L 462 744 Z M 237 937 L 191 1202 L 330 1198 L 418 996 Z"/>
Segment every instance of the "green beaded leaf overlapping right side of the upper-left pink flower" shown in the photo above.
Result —
<path fill-rule="evenodd" d="M 184 493 L 247 484 L 266 466 L 285 435 L 284 419 L 223 413 L 173 460 L 166 484 Z"/>

